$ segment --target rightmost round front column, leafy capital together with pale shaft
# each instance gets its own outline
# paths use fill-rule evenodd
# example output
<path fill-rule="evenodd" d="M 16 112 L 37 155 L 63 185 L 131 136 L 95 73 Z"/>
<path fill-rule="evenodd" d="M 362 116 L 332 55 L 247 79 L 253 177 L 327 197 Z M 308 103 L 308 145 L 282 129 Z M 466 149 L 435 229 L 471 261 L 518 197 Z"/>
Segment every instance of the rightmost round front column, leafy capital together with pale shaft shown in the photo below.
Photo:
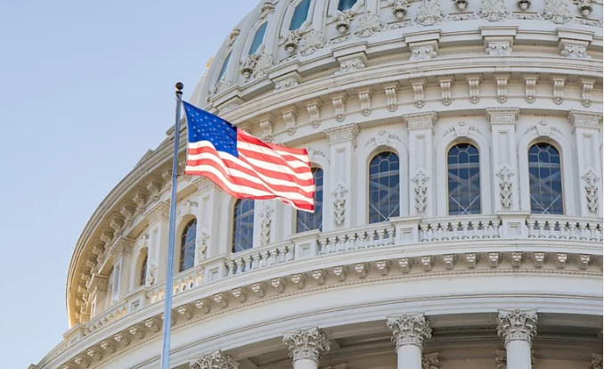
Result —
<path fill-rule="evenodd" d="M 508 369 L 531 369 L 531 346 L 537 333 L 537 310 L 499 310 L 497 334 L 507 351 Z"/>

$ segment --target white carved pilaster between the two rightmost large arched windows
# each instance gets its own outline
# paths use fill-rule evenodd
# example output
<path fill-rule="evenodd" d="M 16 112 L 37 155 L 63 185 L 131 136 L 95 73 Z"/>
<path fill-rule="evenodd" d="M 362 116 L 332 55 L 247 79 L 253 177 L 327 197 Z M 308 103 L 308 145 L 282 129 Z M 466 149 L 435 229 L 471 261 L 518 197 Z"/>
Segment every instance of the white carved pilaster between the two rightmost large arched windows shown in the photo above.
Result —
<path fill-rule="evenodd" d="M 495 213 L 520 209 L 518 191 L 518 155 L 516 154 L 516 123 L 520 108 L 486 108 L 491 125 L 493 147 L 493 185 Z"/>

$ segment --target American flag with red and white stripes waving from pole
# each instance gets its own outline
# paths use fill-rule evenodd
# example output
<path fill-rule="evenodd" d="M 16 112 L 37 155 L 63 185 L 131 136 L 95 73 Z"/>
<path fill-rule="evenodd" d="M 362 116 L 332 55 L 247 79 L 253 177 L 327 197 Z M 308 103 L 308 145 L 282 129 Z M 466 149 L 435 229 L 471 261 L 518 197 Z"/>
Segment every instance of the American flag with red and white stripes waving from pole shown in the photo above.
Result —
<path fill-rule="evenodd" d="M 314 211 L 306 149 L 265 143 L 216 115 L 184 103 L 189 143 L 184 174 L 207 176 L 239 199 L 279 199 Z"/>

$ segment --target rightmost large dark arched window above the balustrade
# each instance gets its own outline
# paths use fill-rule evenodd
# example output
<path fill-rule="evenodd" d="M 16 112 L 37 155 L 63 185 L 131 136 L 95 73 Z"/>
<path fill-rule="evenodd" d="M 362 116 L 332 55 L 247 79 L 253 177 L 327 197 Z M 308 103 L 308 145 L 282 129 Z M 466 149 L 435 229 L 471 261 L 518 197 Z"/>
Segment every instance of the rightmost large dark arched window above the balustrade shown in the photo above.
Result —
<path fill-rule="evenodd" d="M 560 154 L 550 143 L 528 149 L 528 186 L 532 213 L 564 214 Z"/>

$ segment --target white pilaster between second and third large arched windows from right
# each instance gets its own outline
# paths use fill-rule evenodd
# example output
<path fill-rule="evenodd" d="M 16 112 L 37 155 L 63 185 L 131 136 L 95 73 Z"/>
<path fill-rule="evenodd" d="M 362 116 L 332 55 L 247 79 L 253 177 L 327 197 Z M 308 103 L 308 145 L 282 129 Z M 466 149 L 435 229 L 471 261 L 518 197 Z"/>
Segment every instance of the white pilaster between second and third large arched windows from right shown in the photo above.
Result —
<path fill-rule="evenodd" d="M 409 130 L 409 215 L 433 217 L 434 201 L 434 139 L 433 127 L 437 112 L 427 111 L 403 116 Z"/>

